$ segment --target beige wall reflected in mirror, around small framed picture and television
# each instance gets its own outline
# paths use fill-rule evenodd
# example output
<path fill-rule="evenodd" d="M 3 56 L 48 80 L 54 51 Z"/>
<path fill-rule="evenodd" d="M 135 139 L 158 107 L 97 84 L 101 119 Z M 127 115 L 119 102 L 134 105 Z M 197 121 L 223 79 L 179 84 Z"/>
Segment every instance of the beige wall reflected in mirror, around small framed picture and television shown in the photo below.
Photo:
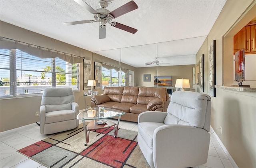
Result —
<path fill-rule="evenodd" d="M 172 86 L 175 86 L 176 79 L 189 79 L 190 88 L 192 90 L 193 67 L 195 65 L 179 65 L 179 66 L 158 66 L 158 76 L 172 76 Z M 143 82 L 143 75 L 151 74 L 151 82 Z M 154 76 L 156 76 L 156 66 L 137 68 L 135 78 L 137 86 L 154 86 Z M 176 88 L 175 88 L 176 89 Z M 174 89 L 174 91 L 175 91 Z M 189 90 L 189 89 L 185 89 Z M 192 90 L 193 91 L 193 90 Z"/>

